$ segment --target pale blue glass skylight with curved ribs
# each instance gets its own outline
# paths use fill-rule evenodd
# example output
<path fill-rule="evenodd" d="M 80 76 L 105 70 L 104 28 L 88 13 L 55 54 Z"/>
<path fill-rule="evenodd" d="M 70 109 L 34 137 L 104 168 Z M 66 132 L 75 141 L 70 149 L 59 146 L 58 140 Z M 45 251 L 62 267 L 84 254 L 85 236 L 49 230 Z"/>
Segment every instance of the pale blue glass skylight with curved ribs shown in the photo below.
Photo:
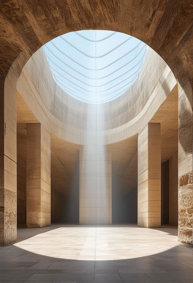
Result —
<path fill-rule="evenodd" d="M 130 35 L 104 30 L 69 32 L 43 46 L 56 83 L 89 103 L 112 100 L 131 87 L 147 48 Z"/>

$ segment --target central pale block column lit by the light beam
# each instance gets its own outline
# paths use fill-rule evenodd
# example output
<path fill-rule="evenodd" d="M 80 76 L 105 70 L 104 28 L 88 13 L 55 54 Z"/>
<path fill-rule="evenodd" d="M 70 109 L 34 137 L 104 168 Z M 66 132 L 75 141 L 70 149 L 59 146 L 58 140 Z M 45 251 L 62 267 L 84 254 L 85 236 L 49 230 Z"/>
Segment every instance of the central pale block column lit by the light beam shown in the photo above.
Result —
<path fill-rule="evenodd" d="M 79 223 L 112 223 L 111 151 L 103 145 L 80 151 Z"/>

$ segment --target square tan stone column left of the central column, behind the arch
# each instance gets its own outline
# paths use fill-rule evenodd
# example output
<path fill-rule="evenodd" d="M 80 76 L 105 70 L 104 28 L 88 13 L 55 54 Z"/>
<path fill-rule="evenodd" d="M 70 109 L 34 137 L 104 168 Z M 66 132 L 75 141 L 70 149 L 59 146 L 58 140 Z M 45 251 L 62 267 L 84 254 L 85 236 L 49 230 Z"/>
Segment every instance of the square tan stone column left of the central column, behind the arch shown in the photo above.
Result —
<path fill-rule="evenodd" d="M 50 225 L 50 135 L 40 123 L 27 124 L 27 227 Z"/>

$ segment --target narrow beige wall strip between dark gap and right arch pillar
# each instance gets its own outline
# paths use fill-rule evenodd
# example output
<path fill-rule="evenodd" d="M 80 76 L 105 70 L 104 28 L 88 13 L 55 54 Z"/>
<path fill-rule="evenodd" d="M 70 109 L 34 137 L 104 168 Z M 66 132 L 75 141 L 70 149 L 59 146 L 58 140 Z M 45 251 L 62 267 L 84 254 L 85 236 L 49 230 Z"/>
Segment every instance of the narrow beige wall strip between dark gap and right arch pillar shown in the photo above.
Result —
<path fill-rule="evenodd" d="M 178 225 L 178 152 L 169 159 L 169 224 Z"/>

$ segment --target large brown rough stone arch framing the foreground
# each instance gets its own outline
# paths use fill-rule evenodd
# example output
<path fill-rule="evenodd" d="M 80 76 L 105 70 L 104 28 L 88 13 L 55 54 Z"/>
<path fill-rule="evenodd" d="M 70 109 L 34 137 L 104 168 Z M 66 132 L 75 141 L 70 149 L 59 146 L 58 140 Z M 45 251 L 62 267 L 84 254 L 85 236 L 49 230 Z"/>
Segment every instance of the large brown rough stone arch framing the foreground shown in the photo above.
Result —
<path fill-rule="evenodd" d="M 5 223 L 3 220 L 1 242 L 4 244 L 13 242 L 16 238 L 15 225 L 12 229 L 8 219 L 6 220 L 6 217 L 11 216 L 13 217 L 11 223 L 14 224 L 14 209 L 8 208 L 8 202 L 12 202 L 15 198 L 15 171 L 13 169 L 11 172 L 13 175 L 11 183 L 6 179 L 6 172 L 9 172 L 8 163 L 13 163 L 12 168 L 15 168 L 16 162 L 17 79 L 25 63 L 37 49 L 47 41 L 69 31 L 106 29 L 124 32 L 144 41 L 166 61 L 178 82 L 179 117 L 183 117 L 179 119 L 179 186 L 182 189 L 184 186 L 191 186 L 190 193 L 192 193 L 193 6 L 190 1 L 176 3 L 169 0 L 165 2 L 71 0 L 67 3 L 56 0 L 53 7 L 53 2 L 14 0 L 11 4 L 4 2 L 1 6 L 0 132 L 2 133 L 1 156 L 4 160 L 1 169 L 3 176 L 1 190 L 3 196 L 7 197 L 2 205 Z M 183 167 L 182 172 L 180 166 Z M 187 178 L 188 182 L 186 182 Z M 192 203 L 190 206 L 192 207 Z M 187 211 L 185 213 L 185 217 L 192 220 L 191 213 Z M 187 219 L 182 219 L 182 227 L 179 229 L 182 235 L 180 239 L 184 242 L 192 242 L 192 227 Z"/>

